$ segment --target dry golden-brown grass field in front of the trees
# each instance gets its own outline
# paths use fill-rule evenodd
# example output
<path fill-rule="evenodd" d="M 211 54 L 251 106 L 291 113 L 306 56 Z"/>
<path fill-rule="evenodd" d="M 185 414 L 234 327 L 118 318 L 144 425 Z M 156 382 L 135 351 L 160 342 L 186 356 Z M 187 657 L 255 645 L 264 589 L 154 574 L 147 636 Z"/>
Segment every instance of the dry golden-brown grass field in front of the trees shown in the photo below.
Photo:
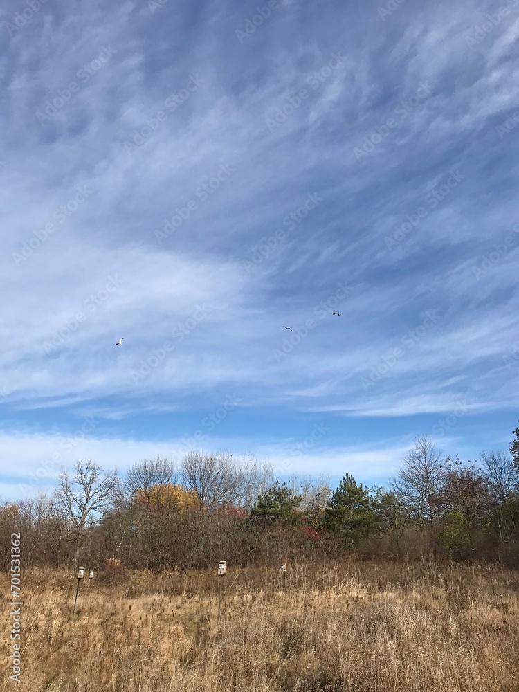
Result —
<path fill-rule="evenodd" d="M 21 684 L 1 691 L 517 692 L 519 574 L 344 561 L 213 572 L 27 570 Z"/>

